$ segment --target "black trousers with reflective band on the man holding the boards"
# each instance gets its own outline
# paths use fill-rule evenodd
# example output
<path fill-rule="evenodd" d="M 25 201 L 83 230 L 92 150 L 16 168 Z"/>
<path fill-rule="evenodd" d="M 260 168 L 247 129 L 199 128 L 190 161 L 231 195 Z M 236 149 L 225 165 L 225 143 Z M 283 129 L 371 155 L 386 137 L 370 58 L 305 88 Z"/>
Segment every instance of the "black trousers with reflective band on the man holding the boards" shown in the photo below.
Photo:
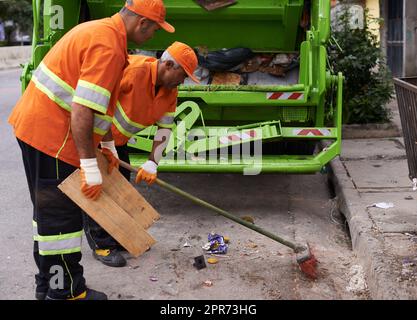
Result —
<path fill-rule="evenodd" d="M 52 299 L 76 297 L 86 290 L 80 265 L 83 212 L 57 186 L 77 168 L 17 141 L 33 203 L 36 291 Z"/>

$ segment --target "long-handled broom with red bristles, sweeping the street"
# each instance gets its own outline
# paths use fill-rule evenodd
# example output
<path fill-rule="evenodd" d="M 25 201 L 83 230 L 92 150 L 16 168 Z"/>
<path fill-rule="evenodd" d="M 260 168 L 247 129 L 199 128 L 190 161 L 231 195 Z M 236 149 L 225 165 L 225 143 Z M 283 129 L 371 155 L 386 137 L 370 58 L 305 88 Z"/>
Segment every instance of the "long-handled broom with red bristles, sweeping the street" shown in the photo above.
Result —
<path fill-rule="evenodd" d="M 120 160 L 120 166 L 127 169 L 127 170 L 130 170 L 132 172 L 138 172 L 138 170 L 136 168 L 132 167 L 130 164 L 128 164 L 128 163 L 126 163 L 122 160 Z M 243 226 L 245 226 L 245 227 L 247 227 L 247 228 L 249 228 L 249 229 L 251 229 L 255 232 L 258 232 L 258 233 L 260 233 L 260 234 L 262 234 L 262 235 L 264 235 L 264 236 L 266 236 L 266 237 L 268 237 L 272 240 L 275 240 L 275 241 L 283 244 L 284 246 L 287 246 L 287 247 L 291 248 L 294 251 L 294 253 L 296 254 L 296 260 L 297 260 L 297 263 L 300 267 L 300 270 L 307 277 L 309 277 L 311 279 L 317 279 L 317 269 L 316 269 L 317 268 L 317 259 L 314 257 L 314 255 L 311 252 L 310 247 L 308 246 L 307 243 L 304 244 L 304 245 L 299 245 L 299 244 L 295 244 L 293 242 L 290 242 L 288 240 L 285 240 L 285 239 L 281 238 L 280 236 L 278 236 L 276 234 L 273 234 L 273 233 L 271 233 L 267 230 L 264 230 L 264 229 L 254 225 L 254 224 L 252 224 L 248 221 L 245 221 L 245 220 L 243 220 L 239 217 L 236 217 L 233 214 L 230 214 L 229 212 L 227 212 L 223 209 L 217 208 L 216 206 L 214 206 L 214 205 L 212 205 L 208 202 L 205 202 L 204 200 L 201 200 L 201 199 L 199 199 L 199 198 L 197 198 L 197 197 L 195 197 L 195 196 L 193 196 L 193 195 L 191 195 L 191 194 L 189 194 L 189 193 L 187 193 L 187 192 L 185 192 L 185 191 L 183 191 L 183 190 L 181 190 L 177 187 L 174 187 L 173 185 L 171 185 L 171 184 L 169 184 L 169 183 L 167 183 L 167 182 L 165 182 L 165 181 L 163 181 L 159 178 L 157 178 L 155 180 L 155 183 L 157 185 L 159 185 L 160 187 L 166 189 L 166 190 L 169 190 L 169 191 L 171 191 L 175 194 L 178 194 L 178 195 L 180 195 L 180 196 L 182 196 L 182 197 L 184 197 L 188 200 L 191 200 L 192 202 L 194 202 L 196 204 L 199 204 L 199 205 L 201 205 L 205 208 L 211 209 L 211 210 L 217 212 L 218 214 L 222 215 L 223 217 L 225 217 L 227 219 L 230 219 L 230 220 L 232 220 L 236 223 L 239 223 L 240 225 L 243 225 Z"/>

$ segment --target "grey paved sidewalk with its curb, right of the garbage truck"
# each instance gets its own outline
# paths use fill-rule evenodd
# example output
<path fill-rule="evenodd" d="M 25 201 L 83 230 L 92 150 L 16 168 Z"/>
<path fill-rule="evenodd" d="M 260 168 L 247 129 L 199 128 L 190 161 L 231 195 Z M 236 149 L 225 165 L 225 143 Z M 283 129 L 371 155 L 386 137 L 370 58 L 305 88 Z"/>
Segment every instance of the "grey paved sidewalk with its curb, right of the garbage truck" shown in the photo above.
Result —
<path fill-rule="evenodd" d="M 395 103 L 392 109 L 401 128 Z M 408 178 L 403 139 L 379 135 L 344 140 L 330 176 L 372 298 L 417 299 L 417 192 Z M 372 207 L 381 202 L 394 207 Z"/>

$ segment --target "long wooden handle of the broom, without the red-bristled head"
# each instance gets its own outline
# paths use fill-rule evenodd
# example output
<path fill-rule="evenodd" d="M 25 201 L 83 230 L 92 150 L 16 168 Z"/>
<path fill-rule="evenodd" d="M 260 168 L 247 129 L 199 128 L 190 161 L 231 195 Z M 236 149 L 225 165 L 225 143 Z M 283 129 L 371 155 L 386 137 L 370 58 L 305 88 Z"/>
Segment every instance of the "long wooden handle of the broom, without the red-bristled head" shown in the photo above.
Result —
<path fill-rule="evenodd" d="M 123 167 L 127 170 L 130 170 L 132 172 L 138 172 L 138 170 L 136 168 L 132 167 L 130 164 L 128 164 L 128 163 L 126 163 L 122 160 L 119 160 L 119 161 L 120 161 L 120 166 L 121 167 Z M 297 251 L 299 249 L 299 246 L 295 245 L 294 243 L 292 243 L 290 241 L 287 241 L 287 240 L 285 240 L 285 239 L 283 239 L 283 238 L 281 238 L 281 237 L 279 237 L 279 236 L 277 236 L 277 235 L 275 235 L 275 234 L 273 234 L 273 233 L 271 233 L 267 230 L 264 230 L 264 229 L 258 227 L 257 225 L 254 225 L 254 224 L 248 222 L 248 221 L 240 219 L 240 218 L 236 217 L 235 215 L 230 214 L 229 212 L 227 212 L 223 209 L 217 208 L 216 206 L 214 206 L 214 205 L 212 205 L 208 202 L 205 202 L 204 200 L 201 200 L 201 199 L 199 199 L 199 198 L 197 198 L 197 197 L 189 194 L 188 192 L 185 192 L 185 191 L 183 191 L 183 190 L 181 190 L 177 187 L 174 187 L 173 185 L 171 185 L 171 184 L 169 184 L 169 183 L 167 183 L 167 182 L 165 182 L 165 181 L 163 181 L 159 178 L 157 178 L 155 180 L 155 182 L 156 182 L 157 185 L 161 186 L 164 189 L 167 189 L 167 190 L 169 190 L 173 193 L 176 193 L 180 196 L 183 196 L 184 198 L 187 198 L 188 200 L 191 200 L 192 202 L 194 202 L 196 204 L 199 204 L 199 205 L 201 205 L 205 208 L 211 209 L 211 210 L 217 212 L 218 214 L 222 215 L 223 217 L 226 217 L 230 220 L 233 220 L 234 222 L 237 222 L 237 223 L 239 223 L 239 224 L 241 224 L 241 225 L 243 225 L 243 226 L 245 226 L 245 227 L 247 227 L 247 228 L 249 228 L 253 231 L 256 231 L 260 234 L 263 234 L 264 236 L 266 236 L 268 238 L 271 238 L 272 240 L 278 241 L 279 243 L 293 249 L 294 251 Z"/>

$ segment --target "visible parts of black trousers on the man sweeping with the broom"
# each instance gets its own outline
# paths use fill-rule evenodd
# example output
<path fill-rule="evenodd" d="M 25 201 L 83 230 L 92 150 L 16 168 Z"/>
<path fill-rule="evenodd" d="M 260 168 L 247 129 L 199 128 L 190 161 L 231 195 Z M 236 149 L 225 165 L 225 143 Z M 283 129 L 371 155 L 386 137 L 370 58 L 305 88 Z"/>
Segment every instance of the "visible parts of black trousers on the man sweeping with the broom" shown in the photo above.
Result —
<path fill-rule="evenodd" d="M 123 146 L 116 147 L 117 154 L 119 155 L 119 159 L 123 160 L 124 162 L 130 163 L 129 161 L 129 152 L 127 144 Z M 130 171 L 120 167 L 119 171 L 123 174 L 123 176 L 130 181 Z M 111 235 L 109 235 L 106 230 L 104 230 L 97 222 L 95 222 L 90 216 L 84 214 L 84 231 L 92 250 L 96 249 L 120 249 L 124 250 L 124 248 L 114 239 Z"/>

